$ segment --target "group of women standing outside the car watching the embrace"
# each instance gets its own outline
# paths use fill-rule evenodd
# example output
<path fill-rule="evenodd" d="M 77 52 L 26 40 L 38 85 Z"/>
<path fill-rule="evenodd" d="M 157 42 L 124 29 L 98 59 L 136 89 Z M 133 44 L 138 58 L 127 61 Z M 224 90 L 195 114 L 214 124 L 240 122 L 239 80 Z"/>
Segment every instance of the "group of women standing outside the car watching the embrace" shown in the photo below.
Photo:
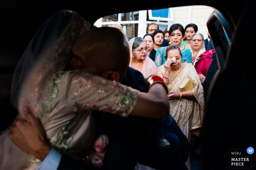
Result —
<path fill-rule="evenodd" d="M 204 117 L 204 80 L 215 50 L 206 51 L 196 24 L 173 24 L 129 41 L 130 65 L 145 78 L 157 74 L 166 83 L 170 114 L 189 141 L 200 137 Z M 161 47 L 163 40 L 169 46 Z M 212 77 L 211 77 L 212 79 Z M 189 83 L 190 86 L 189 87 Z M 187 87 L 181 88 L 182 84 Z M 195 153 L 200 155 L 200 147 Z M 187 161 L 190 169 L 190 163 Z"/>

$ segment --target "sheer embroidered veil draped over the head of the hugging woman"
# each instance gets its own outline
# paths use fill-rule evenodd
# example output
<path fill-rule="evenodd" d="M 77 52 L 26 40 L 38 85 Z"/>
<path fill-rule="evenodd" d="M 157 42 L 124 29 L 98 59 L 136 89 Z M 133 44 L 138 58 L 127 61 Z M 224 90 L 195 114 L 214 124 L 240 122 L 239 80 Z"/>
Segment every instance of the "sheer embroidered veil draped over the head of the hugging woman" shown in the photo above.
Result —
<path fill-rule="evenodd" d="M 21 115 L 25 104 L 39 117 L 40 112 L 51 111 L 50 101 L 57 92 L 54 75 L 64 70 L 72 58 L 72 46 L 89 29 L 89 22 L 68 10 L 56 12 L 41 25 L 13 75 L 11 103 Z"/>

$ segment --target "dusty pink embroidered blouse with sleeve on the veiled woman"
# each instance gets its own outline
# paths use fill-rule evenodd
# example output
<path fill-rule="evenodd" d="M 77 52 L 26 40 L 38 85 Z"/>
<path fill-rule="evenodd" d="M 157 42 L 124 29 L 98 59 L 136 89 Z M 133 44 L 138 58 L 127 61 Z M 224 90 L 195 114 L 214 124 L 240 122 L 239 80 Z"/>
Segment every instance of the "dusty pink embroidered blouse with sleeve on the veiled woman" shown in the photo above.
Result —
<path fill-rule="evenodd" d="M 58 72 L 51 112 L 42 120 L 46 136 L 60 153 L 76 155 L 93 142 L 92 110 L 127 117 L 139 91 L 88 72 Z"/>

